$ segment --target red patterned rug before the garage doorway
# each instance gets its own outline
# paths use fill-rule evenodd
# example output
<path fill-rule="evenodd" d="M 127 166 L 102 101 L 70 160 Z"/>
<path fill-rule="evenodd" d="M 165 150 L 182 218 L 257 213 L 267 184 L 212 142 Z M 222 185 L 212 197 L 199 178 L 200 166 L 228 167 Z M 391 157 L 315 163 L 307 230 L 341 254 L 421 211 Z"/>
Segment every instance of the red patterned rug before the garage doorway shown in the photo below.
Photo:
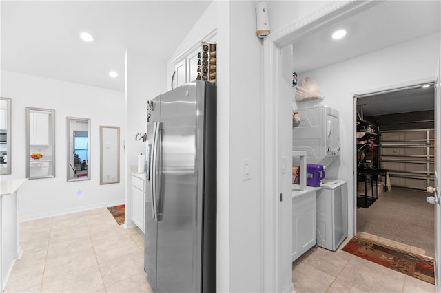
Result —
<path fill-rule="evenodd" d="M 435 284 L 435 269 L 431 257 L 422 257 L 411 252 L 404 252 L 375 241 L 353 237 L 343 251 L 354 254 L 368 261 L 378 263 L 402 274 Z"/>

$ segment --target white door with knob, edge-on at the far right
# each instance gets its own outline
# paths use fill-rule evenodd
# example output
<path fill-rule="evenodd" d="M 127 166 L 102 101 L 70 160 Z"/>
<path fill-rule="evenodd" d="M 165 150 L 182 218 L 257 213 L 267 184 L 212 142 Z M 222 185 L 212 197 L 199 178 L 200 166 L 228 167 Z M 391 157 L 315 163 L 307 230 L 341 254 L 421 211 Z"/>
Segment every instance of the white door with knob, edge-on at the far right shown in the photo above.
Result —
<path fill-rule="evenodd" d="M 435 204 L 435 287 L 436 292 L 441 292 L 441 83 L 440 83 L 440 60 L 435 78 L 435 188 L 427 188 L 427 191 L 435 192 L 433 197 L 427 197 L 427 202 Z"/>

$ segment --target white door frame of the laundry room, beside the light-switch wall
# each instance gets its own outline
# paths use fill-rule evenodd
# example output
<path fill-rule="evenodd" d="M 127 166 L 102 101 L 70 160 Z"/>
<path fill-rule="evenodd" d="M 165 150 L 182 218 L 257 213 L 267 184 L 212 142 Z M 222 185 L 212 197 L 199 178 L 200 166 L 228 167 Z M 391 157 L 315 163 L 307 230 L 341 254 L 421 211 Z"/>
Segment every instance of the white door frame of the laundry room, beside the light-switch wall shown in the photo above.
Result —
<path fill-rule="evenodd" d="M 294 284 L 283 284 L 285 274 L 291 276 L 290 254 L 285 256 L 280 249 L 281 243 L 291 243 L 291 235 L 285 235 L 281 223 L 291 223 L 290 215 L 285 215 L 283 210 L 291 208 L 291 200 L 279 202 L 279 186 L 282 185 L 283 177 L 286 176 L 279 170 L 284 169 L 285 158 L 291 154 L 279 153 L 278 145 L 281 140 L 278 137 L 278 126 L 285 123 L 285 118 L 278 113 L 278 80 L 282 80 L 282 50 L 292 41 L 304 34 L 312 32 L 322 25 L 336 21 L 340 17 L 349 17 L 351 14 L 366 10 L 376 5 L 375 1 L 327 1 L 318 10 L 289 23 L 286 27 L 271 32 L 265 37 L 263 43 L 263 105 L 262 124 L 263 129 L 263 292 L 292 292 Z M 286 156 L 286 157 L 285 157 Z M 280 159 L 280 160 L 279 160 Z M 286 197 L 286 196 L 285 196 Z M 289 207 L 287 207 L 289 205 Z M 291 223 L 292 225 L 292 223 Z M 291 230 L 291 226 L 289 226 Z M 280 277 L 283 275 L 283 277 Z"/>

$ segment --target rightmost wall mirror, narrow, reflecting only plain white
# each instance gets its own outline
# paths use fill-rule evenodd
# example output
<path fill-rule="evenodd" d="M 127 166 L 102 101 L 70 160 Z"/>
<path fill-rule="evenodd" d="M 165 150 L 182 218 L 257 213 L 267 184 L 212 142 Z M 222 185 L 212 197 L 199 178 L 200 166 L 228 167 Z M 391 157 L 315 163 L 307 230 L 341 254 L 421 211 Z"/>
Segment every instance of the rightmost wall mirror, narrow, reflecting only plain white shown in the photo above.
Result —
<path fill-rule="evenodd" d="M 100 126 L 100 184 L 119 183 L 119 127 Z"/>

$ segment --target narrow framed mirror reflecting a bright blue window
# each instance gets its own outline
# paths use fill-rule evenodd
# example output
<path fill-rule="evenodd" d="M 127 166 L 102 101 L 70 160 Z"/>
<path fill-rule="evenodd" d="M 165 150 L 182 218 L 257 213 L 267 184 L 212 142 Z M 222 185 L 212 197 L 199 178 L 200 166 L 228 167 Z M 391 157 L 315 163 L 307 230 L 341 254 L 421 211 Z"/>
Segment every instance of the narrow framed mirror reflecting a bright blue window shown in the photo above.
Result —
<path fill-rule="evenodd" d="M 68 182 L 90 180 L 90 119 L 67 118 Z"/>

